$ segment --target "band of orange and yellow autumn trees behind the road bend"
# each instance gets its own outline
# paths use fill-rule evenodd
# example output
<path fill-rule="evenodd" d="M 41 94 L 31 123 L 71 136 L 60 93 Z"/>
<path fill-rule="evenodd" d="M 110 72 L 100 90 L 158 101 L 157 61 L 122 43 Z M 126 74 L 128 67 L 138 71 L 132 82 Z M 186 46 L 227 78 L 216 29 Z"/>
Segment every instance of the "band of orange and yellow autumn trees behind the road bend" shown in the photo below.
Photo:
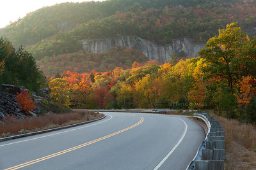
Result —
<path fill-rule="evenodd" d="M 71 108 L 210 108 L 255 121 L 255 46 L 233 23 L 211 38 L 198 58 L 134 62 L 131 69 L 105 72 L 65 71 L 49 86 L 54 101 Z"/>

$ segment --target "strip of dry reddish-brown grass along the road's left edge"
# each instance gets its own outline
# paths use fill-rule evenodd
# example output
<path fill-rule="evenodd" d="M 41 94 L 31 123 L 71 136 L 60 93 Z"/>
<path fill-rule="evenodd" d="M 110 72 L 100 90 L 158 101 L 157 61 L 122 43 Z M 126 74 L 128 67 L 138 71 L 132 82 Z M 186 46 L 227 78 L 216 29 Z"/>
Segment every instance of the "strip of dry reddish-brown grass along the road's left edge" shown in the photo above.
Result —
<path fill-rule="evenodd" d="M 38 117 L 26 117 L 24 119 L 8 117 L 5 122 L 0 122 L 0 138 L 27 132 L 42 131 L 64 125 L 77 124 L 103 116 L 104 115 L 95 113 L 94 111 L 76 110 L 70 113 L 45 114 Z"/>

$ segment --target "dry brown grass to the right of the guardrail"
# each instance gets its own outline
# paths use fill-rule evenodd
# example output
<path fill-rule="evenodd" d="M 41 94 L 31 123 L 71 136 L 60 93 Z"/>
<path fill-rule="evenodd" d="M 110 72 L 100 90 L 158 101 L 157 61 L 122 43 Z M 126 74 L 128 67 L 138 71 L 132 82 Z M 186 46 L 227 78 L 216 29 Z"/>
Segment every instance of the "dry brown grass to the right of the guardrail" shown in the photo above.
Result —
<path fill-rule="evenodd" d="M 225 133 L 225 169 L 256 169 L 256 127 L 212 115 Z"/>

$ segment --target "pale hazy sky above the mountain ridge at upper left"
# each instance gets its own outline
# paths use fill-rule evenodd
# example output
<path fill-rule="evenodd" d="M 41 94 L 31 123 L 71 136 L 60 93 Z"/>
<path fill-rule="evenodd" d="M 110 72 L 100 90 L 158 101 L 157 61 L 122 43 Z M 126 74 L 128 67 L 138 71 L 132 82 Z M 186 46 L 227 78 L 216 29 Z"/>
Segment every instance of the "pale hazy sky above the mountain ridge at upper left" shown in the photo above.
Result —
<path fill-rule="evenodd" d="M 84 2 L 92 0 L 0 0 L 0 28 L 15 22 L 18 18 L 23 18 L 27 13 L 38 10 L 44 6 L 65 2 Z M 104 1 L 104 0 L 93 0 Z"/>

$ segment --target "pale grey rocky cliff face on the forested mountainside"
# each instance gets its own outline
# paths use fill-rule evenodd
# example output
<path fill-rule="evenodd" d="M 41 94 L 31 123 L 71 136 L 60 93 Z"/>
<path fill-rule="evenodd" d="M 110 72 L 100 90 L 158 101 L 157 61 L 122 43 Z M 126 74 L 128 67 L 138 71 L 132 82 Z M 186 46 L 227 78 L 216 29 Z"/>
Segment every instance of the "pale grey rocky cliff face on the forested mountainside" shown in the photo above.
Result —
<path fill-rule="evenodd" d="M 118 38 L 83 39 L 82 45 L 84 53 L 102 53 L 115 48 L 115 46 L 128 46 L 140 50 L 148 59 L 168 62 L 170 56 L 178 55 L 180 52 L 185 52 L 189 57 L 197 57 L 199 50 L 205 46 L 205 43 L 193 44 L 189 38 L 179 38 L 172 39 L 172 43 L 167 45 L 157 45 L 137 36 L 118 36 Z"/>

